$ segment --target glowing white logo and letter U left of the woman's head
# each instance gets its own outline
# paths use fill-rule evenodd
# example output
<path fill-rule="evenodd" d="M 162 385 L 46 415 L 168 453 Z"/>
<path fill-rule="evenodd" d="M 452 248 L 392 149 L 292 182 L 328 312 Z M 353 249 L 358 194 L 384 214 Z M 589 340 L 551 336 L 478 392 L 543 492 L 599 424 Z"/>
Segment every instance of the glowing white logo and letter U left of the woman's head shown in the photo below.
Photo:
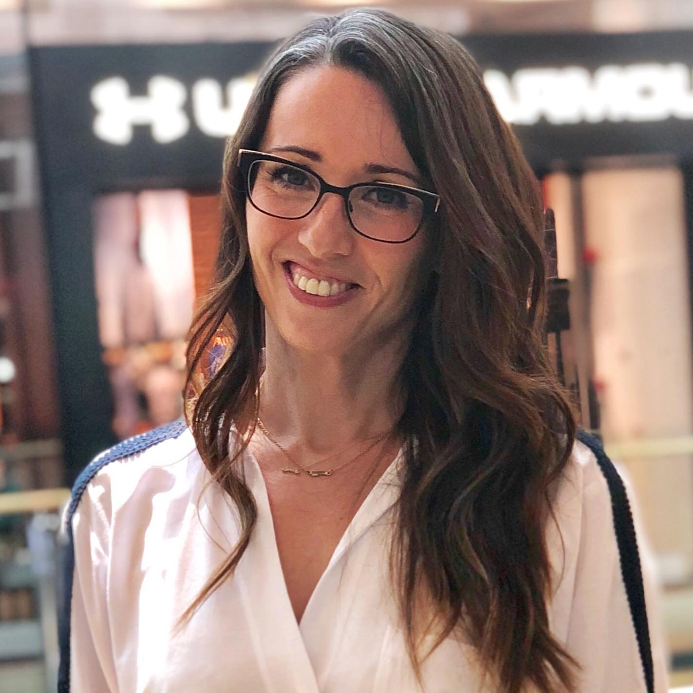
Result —
<path fill-rule="evenodd" d="M 255 82 L 254 74 L 231 79 L 225 87 L 217 80 L 197 80 L 189 96 L 198 128 L 209 137 L 236 132 Z M 94 134 L 125 146 L 132 141 L 135 125 L 149 125 L 155 141 L 168 144 L 190 129 L 184 110 L 187 100 L 186 85 L 173 77 L 152 77 L 146 96 L 133 96 L 124 77 L 102 80 L 91 89 L 91 103 L 96 108 Z"/>

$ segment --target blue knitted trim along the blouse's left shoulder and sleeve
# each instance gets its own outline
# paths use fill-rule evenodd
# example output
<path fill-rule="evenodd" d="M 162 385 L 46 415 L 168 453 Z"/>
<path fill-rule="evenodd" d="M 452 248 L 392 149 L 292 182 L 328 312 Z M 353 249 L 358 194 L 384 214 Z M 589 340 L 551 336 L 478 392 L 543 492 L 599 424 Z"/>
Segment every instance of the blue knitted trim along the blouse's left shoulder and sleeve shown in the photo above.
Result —
<path fill-rule="evenodd" d="M 58 640 L 60 641 L 60 667 L 58 669 L 58 693 L 69 693 L 70 691 L 70 615 L 72 611 L 72 582 L 75 568 L 75 547 L 72 537 L 72 517 L 79 505 L 82 493 L 94 475 L 107 464 L 115 462 L 117 459 L 129 457 L 136 453 L 141 453 L 157 443 L 165 440 L 177 438 L 186 430 L 187 425 L 183 419 L 177 419 L 166 426 L 160 426 L 141 435 L 136 435 L 128 440 L 123 440 L 119 444 L 106 450 L 96 457 L 82 470 L 74 486 L 72 487 L 72 500 L 67 509 L 66 529 L 67 544 L 62 549 L 62 599 L 58 606 Z"/>

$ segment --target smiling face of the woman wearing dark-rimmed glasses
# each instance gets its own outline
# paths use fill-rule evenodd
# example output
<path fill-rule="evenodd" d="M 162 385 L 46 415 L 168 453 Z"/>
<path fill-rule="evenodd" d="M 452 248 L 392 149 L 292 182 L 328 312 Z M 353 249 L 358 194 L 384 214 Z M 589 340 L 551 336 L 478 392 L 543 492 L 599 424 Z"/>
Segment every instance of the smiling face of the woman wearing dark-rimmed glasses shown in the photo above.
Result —
<path fill-rule="evenodd" d="M 308 166 L 336 186 L 378 181 L 423 188 L 385 94 L 336 67 L 308 69 L 281 87 L 259 149 Z M 403 337 L 426 229 L 401 244 L 364 238 L 351 227 L 344 200 L 329 193 L 302 219 L 267 216 L 250 202 L 245 212 L 268 328 L 271 322 L 288 344 L 363 353 Z M 301 290 L 306 282 L 300 277 L 328 282 L 334 295 Z"/>

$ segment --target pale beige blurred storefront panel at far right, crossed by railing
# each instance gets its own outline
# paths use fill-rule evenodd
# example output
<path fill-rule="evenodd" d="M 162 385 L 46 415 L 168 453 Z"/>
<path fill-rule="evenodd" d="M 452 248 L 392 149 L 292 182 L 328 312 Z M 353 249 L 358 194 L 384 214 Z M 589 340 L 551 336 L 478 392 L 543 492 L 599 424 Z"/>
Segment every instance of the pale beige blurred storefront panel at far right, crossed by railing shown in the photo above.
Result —
<path fill-rule="evenodd" d="M 606 444 L 693 433 L 683 179 L 678 168 L 584 176 L 595 372 Z M 623 460 L 668 583 L 693 581 L 693 457 Z"/>

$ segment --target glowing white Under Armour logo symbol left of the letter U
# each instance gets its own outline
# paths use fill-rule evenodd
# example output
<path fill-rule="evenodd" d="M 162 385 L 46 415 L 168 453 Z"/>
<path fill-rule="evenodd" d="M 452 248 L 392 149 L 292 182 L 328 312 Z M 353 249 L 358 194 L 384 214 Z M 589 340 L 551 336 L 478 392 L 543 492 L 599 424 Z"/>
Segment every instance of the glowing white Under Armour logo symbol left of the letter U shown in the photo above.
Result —
<path fill-rule="evenodd" d="M 91 89 L 91 103 L 98 111 L 94 132 L 112 144 L 128 144 L 134 125 L 150 125 L 152 137 L 166 144 L 183 137 L 190 122 L 183 111 L 185 86 L 171 77 L 149 80 L 148 96 L 130 96 L 130 87 L 122 77 L 99 82 Z"/>

